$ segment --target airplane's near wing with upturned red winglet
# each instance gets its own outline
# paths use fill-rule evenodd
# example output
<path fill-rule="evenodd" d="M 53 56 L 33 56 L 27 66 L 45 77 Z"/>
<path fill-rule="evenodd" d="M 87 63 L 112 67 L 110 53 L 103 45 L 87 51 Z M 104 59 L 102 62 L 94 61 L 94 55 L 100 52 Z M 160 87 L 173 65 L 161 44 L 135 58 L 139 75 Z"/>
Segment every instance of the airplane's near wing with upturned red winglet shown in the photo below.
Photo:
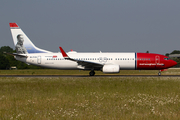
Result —
<path fill-rule="evenodd" d="M 59 47 L 59 48 L 60 48 L 60 51 L 61 51 L 63 57 L 64 57 L 66 60 L 75 61 L 75 62 L 78 63 L 78 65 L 81 65 L 81 66 L 84 66 L 84 67 L 87 67 L 87 68 L 101 68 L 101 67 L 103 67 L 103 64 L 99 64 L 99 63 L 95 63 L 95 62 L 89 62 L 89 61 L 84 61 L 84 60 L 76 60 L 76 59 L 70 58 L 70 57 L 64 52 L 64 50 L 62 49 L 62 47 Z"/>

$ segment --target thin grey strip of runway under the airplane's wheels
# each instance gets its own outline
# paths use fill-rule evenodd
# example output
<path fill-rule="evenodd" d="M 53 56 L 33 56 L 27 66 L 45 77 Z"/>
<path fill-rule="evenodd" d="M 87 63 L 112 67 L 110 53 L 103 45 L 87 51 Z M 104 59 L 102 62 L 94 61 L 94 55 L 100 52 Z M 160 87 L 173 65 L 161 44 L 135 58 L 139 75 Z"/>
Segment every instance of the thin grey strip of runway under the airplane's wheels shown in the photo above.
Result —
<path fill-rule="evenodd" d="M 0 75 L 0 77 L 30 77 L 30 78 L 40 78 L 40 77 L 180 77 L 180 75 Z"/>

